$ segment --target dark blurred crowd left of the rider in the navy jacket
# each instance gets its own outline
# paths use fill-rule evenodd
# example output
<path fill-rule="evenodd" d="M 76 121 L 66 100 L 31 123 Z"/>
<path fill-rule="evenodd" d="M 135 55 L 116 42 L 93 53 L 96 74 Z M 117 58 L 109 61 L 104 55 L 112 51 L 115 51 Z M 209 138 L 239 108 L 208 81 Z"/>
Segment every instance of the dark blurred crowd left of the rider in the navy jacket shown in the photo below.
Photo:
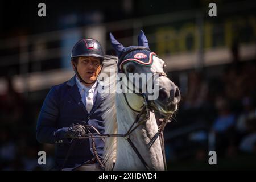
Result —
<path fill-rule="evenodd" d="M 6 81 L 7 92 L 0 96 L 0 170 L 46 169 L 48 165 L 38 165 L 38 152 L 46 151 L 49 155 L 47 162 L 52 164 L 53 146 L 36 141 L 36 119 L 40 108 L 15 91 L 10 76 Z"/>

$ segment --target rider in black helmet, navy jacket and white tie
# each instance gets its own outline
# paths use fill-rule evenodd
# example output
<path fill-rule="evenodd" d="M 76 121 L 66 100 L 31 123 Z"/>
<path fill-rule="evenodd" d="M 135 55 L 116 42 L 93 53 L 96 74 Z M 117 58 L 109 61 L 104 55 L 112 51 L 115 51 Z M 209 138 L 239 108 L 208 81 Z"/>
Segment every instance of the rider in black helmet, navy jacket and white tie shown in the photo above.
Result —
<path fill-rule="evenodd" d="M 79 40 L 71 54 L 75 76 L 53 86 L 44 100 L 36 138 L 40 143 L 55 144 L 54 169 L 101 169 L 104 142 L 96 138 L 94 146 L 91 139 L 79 138 L 87 132 L 84 125 L 94 126 L 100 133 L 105 131 L 100 107 L 103 100 L 97 92 L 104 57 L 97 40 Z"/>

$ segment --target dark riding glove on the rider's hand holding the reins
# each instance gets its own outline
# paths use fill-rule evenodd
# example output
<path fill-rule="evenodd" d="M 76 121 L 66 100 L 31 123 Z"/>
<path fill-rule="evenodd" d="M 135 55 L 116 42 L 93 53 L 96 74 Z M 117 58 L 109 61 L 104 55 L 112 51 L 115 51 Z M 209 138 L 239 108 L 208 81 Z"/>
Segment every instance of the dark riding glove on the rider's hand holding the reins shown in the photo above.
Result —
<path fill-rule="evenodd" d="M 65 134 L 66 138 L 80 138 L 82 135 L 85 135 L 85 127 L 78 124 L 78 123 L 73 123 L 72 125 L 69 126 L 68 132 Z"/>

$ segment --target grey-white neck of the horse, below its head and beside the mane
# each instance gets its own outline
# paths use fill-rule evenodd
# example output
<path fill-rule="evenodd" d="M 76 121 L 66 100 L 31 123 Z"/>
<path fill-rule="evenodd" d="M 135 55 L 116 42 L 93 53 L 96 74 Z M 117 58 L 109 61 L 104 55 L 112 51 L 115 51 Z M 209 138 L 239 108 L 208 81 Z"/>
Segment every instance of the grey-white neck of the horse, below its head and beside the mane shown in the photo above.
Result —
<path fill-rule="evenodd" d="M 122 94 L 116 94 L 116 105 L 118 123 L 117 133 L 125 134 L 134 122 L 138 113 L 134 113 L 134 111 L 127 106 Z M 158 126 L 155 121 L 155 115 L 154 113 L 150 113 L 148 121 L 135 129 L 130 134 L 130 139 L 151 169 L 164 170 L 163 155 L 159 138 L 156 139 L 150 149 L 147 147 L 148 142 L 150 142 L 157 131 Z M 117 140 L 117 160 L 114 169 L 145 169 L 143 163 L 125 138 L 118 138 Z"/>

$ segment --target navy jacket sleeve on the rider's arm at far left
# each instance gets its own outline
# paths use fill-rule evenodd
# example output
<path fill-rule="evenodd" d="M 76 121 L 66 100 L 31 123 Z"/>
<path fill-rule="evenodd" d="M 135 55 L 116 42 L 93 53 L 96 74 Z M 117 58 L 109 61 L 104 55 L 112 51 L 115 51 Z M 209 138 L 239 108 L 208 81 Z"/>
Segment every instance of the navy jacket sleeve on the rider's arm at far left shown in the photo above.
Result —
<path fill-rule="evenodd" d="M 56 88 L 52 87 L 46 96 L 41 108 L 38 123 L 36 126 L 36 139 L 40 143 L 69 143 L 64 137 L 68 127 L 57 128 L 57 118 L 59 115 L 58 99 Z"/>

